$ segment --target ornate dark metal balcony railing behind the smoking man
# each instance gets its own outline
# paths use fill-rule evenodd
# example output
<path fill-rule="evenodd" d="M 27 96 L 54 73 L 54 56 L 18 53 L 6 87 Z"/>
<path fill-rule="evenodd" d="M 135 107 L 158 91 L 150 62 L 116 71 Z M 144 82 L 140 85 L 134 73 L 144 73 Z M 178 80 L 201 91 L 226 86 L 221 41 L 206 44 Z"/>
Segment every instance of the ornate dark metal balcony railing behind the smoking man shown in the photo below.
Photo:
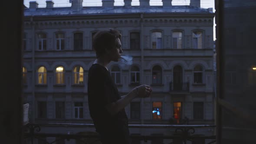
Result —
<path fill-rule="evenodd" d="M 81 144 L 101 144 L 99 141 L 99 135 L 92 133 L 77 133 L 77 134 L 59 134 L 59 133 L 42 133 L 41 127 L 44 126 L 58 126 L 58 127 L 94 127 L 93 124 L 68 124 L 68 123 L 47 123 L 36 124 L 29 123 L 24 126 L 24 138 L 30 139 L 29 144 L 34 144 L 34 139 L 38 139 L 43 144 L 59 144 L 60 141 L 74 139 Z M 195 128 L 215 128 L 216 125 L 158 125 L 158 124 L 129 124 L 129 128 L 170 128 L 175 129 L 173 135 L 131 135 L 131 140 L 136 141 L 151 141 L 156 139 L 172 139 L 173 141 L 168 144 L 187 144 L 187 141 L 191 141 L 192 144 L 205 144 L 205 140 L 209 139 L 212 144 L 216 141 L 215 135 L 193 135 Z M 54 141 L 46 141 L 42 137 L 58 137 Z M 159 143 L 160 144 L 160 143 Z"/>

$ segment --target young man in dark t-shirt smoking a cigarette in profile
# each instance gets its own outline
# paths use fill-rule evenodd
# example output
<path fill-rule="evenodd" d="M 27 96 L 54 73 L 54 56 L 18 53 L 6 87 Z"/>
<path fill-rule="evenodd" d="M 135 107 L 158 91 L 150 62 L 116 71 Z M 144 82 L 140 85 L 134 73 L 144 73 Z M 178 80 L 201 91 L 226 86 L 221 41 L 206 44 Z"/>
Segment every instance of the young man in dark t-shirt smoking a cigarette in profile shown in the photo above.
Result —
<path fill-rule="evenodd" d="M 110 29 L 97 32 L 92 42 L 96 60 L 88 73 L 88 102 L 102 144 L 130 144 L 125 106 L 133 98 L 147 98 L 152 92 L 150 86 L 140 85 L 127 95 L 119 95 L 107 65 L 119 61 L 123 52 L 120 39 L 119 31 Z"/>

